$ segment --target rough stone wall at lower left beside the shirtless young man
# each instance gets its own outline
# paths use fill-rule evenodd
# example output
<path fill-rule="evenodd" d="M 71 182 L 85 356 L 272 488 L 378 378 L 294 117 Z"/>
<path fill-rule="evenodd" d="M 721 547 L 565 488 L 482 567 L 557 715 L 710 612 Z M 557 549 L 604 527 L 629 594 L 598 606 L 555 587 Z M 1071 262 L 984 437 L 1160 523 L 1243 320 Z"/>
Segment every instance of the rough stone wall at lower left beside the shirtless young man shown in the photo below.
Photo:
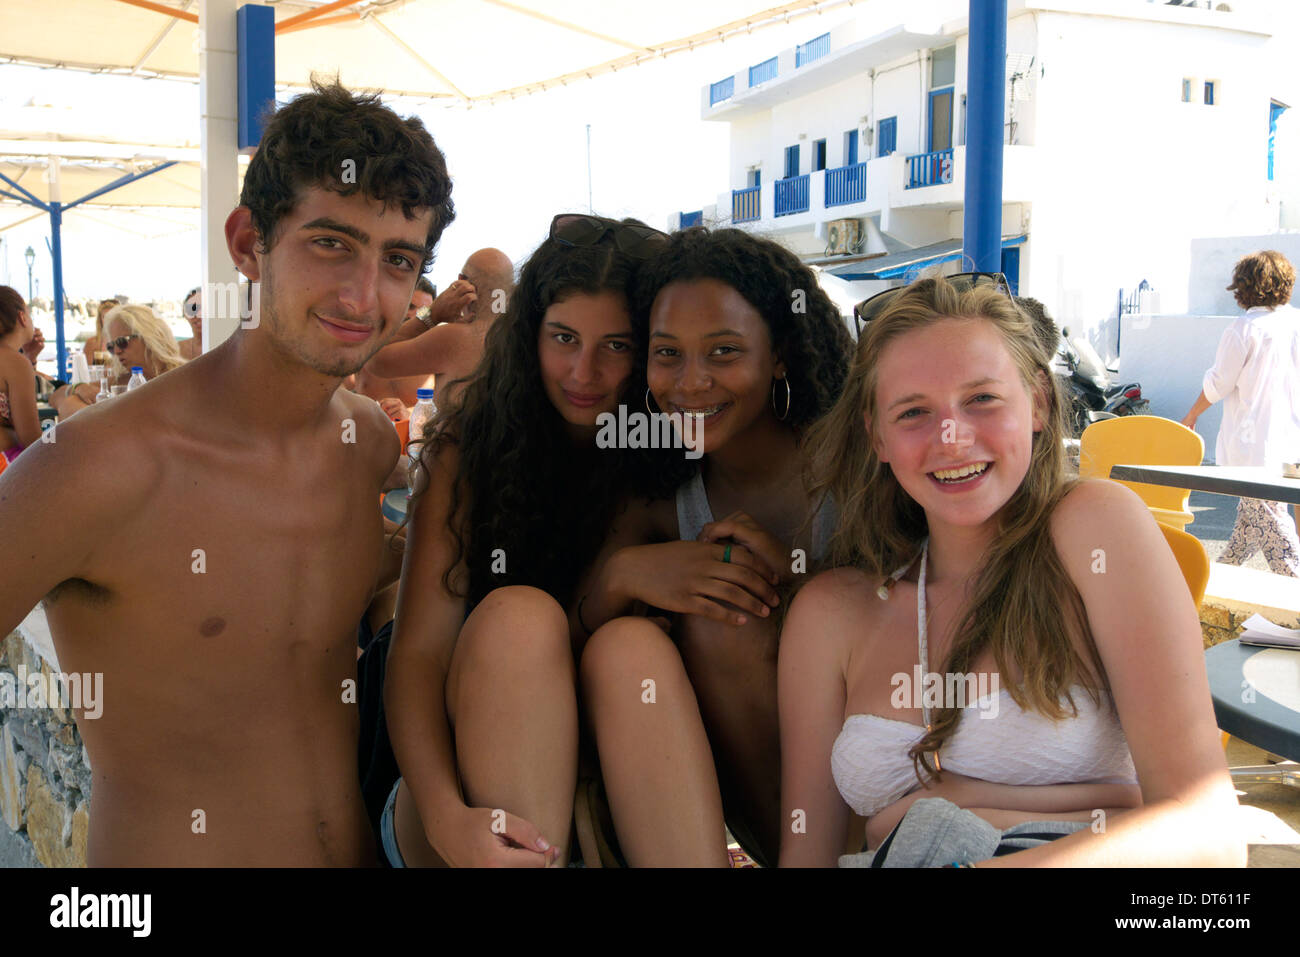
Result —
<path fill-rule="evenodd" d="M 0 679 L 43 674 L 53 687 L 57 668 L 20 632 L 0 642 Z M 0 866 L 84 867 L 90 827 L 90 761 L 72 711 L 0 703 Z"/>

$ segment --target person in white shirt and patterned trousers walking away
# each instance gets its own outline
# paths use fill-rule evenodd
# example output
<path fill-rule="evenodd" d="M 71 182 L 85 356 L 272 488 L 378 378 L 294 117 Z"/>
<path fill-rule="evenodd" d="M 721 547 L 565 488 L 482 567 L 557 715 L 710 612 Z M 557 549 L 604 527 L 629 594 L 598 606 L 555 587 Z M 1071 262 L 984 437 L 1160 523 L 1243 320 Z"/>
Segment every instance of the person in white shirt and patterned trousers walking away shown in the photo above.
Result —
<path fill-rule="evenodd" d="M 1300 309 L 1291 307 L 1296 270 L 1273 250 L 1254 252 L 1232 269 L 1228 289 L 1245 315 L 1219 339 L 1196 404 L 1183 425 L 1223 399 L 1214 460 L 1221 465 L 1300 462 Z M 1300 577 L 1296 525 L 1280 502 L 1243 498 L 1227 547 L 1217 560 L 1242 564 L 1260 549 L 1275 575 Z"/>

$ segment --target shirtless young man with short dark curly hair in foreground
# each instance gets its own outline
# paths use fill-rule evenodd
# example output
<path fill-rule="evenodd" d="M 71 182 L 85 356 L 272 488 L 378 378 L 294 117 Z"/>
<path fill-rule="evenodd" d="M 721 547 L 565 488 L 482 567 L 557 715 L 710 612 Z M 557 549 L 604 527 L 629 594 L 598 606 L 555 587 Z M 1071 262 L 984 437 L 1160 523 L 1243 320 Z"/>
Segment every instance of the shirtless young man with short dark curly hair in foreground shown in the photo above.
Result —
<path fill-rule="evenodd" d="M 376 862 L 350 688 L 398 441 L 338 384 L 396 332 L 450 190 L 419 120 L 295 99 L 226 220 L 250 328 L 0 476 L 0 633 L 46 597 L 61 668 L 103 674 L 91 865 Z"/>

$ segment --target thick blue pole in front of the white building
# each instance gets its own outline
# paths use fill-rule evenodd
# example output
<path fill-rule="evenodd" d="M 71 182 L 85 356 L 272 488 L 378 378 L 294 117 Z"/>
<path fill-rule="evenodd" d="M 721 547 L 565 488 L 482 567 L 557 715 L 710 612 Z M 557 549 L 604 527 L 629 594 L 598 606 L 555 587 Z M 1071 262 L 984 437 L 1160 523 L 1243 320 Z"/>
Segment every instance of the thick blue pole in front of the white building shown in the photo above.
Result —
<path fill-rule="evenodd" d="M 962 246 L 976 272 L 1002 270 L 1002 117 L 1006 0 L 970 0 L 966 72 L 966 216 Z"/>

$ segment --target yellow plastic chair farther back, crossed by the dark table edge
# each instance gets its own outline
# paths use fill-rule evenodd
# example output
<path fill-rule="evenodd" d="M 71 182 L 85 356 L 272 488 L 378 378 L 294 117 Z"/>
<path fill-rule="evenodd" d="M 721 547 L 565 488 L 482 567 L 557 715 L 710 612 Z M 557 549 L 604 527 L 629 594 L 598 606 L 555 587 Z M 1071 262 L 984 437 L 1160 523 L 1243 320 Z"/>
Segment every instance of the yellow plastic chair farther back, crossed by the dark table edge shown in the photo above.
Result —
<path fill-rule="evenodd" d="M 1112 465 L 1199 465 L 1205 442 L 1173 419 L 1128 415 L 1105 419 L 1079 438 L 1079 477 L 1109 478 Z M 1118 480 L 1115 480 L 1118 481 Z M 1138 493 L 1156 521 L 1183 529 L 1195 518 L 1187 507 L 1191 489 L 1121 482 Z"/>

